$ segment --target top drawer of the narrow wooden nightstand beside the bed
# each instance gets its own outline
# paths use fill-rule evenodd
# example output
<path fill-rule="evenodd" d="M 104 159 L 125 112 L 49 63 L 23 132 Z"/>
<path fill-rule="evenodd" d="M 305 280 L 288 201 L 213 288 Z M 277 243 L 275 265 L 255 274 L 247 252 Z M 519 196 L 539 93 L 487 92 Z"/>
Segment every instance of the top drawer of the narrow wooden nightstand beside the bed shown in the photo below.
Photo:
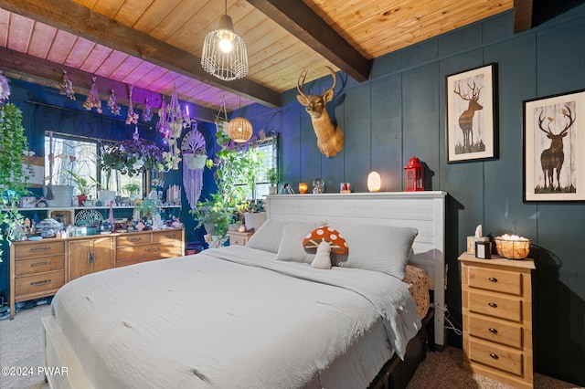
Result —
<path fill-rule="evenodd" d="M 494 268 L 467 267 L 470 288 L 493 290 L 501 293 L 522 294 L 522 275 L 518 272 Z"/>

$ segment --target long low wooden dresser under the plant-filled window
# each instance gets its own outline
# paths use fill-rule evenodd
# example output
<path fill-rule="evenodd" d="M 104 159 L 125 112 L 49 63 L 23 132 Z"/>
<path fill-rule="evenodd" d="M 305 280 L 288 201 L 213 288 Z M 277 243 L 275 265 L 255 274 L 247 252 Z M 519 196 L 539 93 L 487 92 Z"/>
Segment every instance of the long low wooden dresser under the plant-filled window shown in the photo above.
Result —
<path fill-rule="evenodd" d="M 184 253 L 183 228 L 12 242 L 10 319 L 16 302 L 53 296 L 72 279 Z"/>

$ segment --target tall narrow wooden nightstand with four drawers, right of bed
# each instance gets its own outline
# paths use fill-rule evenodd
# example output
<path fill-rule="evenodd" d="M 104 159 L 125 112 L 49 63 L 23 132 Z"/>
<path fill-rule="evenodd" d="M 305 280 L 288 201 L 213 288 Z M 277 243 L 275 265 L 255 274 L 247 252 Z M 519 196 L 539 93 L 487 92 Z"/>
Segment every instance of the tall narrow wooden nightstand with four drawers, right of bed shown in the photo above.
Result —
<path fill-rule="evenodd" d="M 518 388 L 533 387 L 530 258 L 463 253 L 463 368 Z"/>

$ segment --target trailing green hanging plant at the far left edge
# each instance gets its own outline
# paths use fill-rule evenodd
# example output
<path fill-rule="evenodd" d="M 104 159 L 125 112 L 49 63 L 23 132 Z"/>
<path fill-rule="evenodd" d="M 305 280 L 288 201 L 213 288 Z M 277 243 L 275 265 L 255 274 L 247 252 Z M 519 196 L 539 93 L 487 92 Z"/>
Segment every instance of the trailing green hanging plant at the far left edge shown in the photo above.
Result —
<path fill-rule="evenodd" d="M 0 97 L 10 94 L 4 76 L 0 75 Z M 18 203 L 22 195 L 27 194 L 28 176 L 23 169 L 24 152 L 28 142 L 25 128 L 22 125 L 22 111 L 12 103 L 0 105 L 0 224 L 2 225 L 0 240 L 18 239 L 23 217 L 18 212 Z M 2 254 L 4 243 L 0 246 Z"/>

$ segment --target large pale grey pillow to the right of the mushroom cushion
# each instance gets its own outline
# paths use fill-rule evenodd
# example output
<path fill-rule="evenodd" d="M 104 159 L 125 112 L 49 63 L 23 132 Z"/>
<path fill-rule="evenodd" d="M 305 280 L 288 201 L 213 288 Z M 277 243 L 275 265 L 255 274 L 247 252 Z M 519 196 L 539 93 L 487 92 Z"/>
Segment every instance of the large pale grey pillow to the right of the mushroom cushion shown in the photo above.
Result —
<path fill-rule="evenodd" d="M 354 223 L 331 223 L 331 226 L 346 238 L 349 247 L 346 255 L 332 255 L 336 266 L 381 271 L 404 278 L 412 243 L 419 234 L 416 228 Z"/>

